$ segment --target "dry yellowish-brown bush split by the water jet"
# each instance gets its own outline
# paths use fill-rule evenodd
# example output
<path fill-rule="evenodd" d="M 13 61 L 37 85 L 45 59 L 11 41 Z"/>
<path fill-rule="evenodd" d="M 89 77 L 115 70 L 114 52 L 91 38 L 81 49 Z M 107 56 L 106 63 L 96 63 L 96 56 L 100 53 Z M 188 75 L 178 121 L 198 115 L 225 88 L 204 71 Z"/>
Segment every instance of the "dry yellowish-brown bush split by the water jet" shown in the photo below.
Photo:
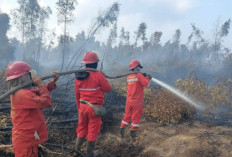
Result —
<path fill-rule="evenodd" d="M 224 114 L 219 113 L 222 107 L 232 108 L 232 80 L 218 82 L 214 87 L 210 87 L 201 80 L 191 78 L 177 80 L 176 86 L 184 94 L 205 106 L 205 110 L 198 113 L 201 117 L 217 119 Z M 162 89 L 145 106 L 144 114 L 148 119 L 167 124 L 192 119 L 196 117 L 197 111 L 169 91 Z"/>

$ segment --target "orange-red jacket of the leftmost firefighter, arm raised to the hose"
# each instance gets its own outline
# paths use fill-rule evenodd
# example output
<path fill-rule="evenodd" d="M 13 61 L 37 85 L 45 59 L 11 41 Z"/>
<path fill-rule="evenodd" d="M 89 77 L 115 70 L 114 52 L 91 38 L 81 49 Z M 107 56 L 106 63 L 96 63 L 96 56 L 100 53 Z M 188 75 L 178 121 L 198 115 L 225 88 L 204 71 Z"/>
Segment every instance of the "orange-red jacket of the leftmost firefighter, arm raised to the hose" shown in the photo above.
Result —
<path fill-rule="evenodd" d="M 11 95 L 12 143 L 14 148 L 36 146 L 48 139 L 42 108 L 51 107 L 49 82 L 38 89 L 20 89 Z"/>

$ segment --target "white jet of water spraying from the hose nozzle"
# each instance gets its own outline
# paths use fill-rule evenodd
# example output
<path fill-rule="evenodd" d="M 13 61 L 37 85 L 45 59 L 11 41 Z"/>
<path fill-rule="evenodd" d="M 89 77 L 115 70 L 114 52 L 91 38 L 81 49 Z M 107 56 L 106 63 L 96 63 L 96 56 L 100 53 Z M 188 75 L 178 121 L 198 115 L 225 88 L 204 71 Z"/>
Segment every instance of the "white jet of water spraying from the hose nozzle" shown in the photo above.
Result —
<path fill-rule="evenodd" d="M 157 80 L 155 78 L 151 79 L 153 82 L 157 83 L 158 85 L 162 86 L 163 88 L 167 89 L 168 91 L 172 92 L 173 94 L 175 94 L 176 96 L 178 96 L 179 98 L 181 98 L 182 100 L 184 100 L 185 102 L 187 102 L 188 104 L 194 106 L 195 108 L 199 109 L 199 110 L 204 110 L 205 106 L 202 103 L 196 103 L 195 101 L 191 100 L 190 98 L 188 98 L 185 94 L 181 93 L 180 91 L 178 91 L 177 89 L 167 85 L 166 83 Z"/>

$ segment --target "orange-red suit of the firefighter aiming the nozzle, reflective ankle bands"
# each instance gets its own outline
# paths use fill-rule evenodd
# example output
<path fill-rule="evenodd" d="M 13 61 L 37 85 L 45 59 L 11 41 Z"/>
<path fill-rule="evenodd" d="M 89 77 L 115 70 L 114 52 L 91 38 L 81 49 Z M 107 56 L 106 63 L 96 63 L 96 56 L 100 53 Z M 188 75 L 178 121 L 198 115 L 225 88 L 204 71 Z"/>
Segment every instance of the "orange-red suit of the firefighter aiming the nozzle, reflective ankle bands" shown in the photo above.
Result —
<path fill-rule="evenodd" d="M 143 114 L 143 88 L 148 87 L 149 78 L 144 77 L 141 73 L 131 74 L 127 77 L 127 100 L 124 118 L 121 122 L 121 128 L 125 128 L 130 120 L 131 129 L 137 129 Z"/>

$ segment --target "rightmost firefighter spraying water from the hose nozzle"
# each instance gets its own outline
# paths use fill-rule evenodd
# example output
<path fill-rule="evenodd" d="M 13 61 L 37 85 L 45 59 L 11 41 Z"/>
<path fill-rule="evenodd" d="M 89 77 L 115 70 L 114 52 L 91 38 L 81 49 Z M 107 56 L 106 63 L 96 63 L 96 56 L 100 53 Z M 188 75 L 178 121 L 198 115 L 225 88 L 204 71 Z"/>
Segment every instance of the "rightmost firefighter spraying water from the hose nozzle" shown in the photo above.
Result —
<path fill-rule="evenodd" d="M 143 113 L 143 88 L 148 87 L 151 75 L 141 74 L 140 70 L 143 67 L 138 60 L 131 60 L 129 69 L 136 74 L 131 74 L 127 77 L 127 100 L 125 107 L 124 118 L 121 122 L 120 137 L 124 137 L 126 126 L 131 123 L 130 141 L 134 142 L 136 138 L 136 131 L 139 127 L 139 122 Z"/>

